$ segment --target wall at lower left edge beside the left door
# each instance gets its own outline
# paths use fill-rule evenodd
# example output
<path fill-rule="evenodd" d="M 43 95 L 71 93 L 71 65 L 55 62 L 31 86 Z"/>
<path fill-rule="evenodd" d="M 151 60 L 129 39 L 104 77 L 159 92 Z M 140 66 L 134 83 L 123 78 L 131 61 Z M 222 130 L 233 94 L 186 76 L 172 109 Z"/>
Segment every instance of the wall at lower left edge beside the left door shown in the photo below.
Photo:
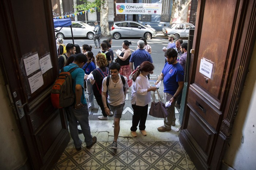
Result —
<path fill-rule="evenodd" d="M 0 69 L 0 169 L 17 169 L 26 162 L 20 131 Z"/>

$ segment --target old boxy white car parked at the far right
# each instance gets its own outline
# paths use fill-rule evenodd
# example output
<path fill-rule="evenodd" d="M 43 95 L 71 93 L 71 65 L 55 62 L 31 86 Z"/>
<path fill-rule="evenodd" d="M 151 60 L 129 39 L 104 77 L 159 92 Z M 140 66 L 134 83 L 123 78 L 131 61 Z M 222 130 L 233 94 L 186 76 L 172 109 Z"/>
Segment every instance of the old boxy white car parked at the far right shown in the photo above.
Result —
<path fill-rule="evenodd" d="M 188 37 L 189 29 L 195 29 L 195 26 L 191 23 L 172 23 L 168 27 L 163 27 L 163 34 L 173 34 L 177 40 L 180 37 Z"/>

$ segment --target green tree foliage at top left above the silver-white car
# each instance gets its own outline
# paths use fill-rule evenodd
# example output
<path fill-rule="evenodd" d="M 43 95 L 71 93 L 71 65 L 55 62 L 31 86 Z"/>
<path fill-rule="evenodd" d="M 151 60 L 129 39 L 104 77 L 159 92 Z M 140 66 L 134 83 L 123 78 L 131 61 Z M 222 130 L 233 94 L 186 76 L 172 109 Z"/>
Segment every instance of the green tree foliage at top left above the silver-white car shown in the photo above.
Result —
<path fill-rule="evenodd" d="M 105 0 L 95 0 L 94 2 L 89 2 L 87 0 L 80 0 L 80 1 L 84 3 L 76 6 L 78 11 L 87 11 L 88 9 L 91 9 L 90 11 L 91 13 L 93 13 L 95 12 L 95 7 L 97 8 L 97 10 L 99 10 L 101 7 L 101 3 L 104 3 Z"/>

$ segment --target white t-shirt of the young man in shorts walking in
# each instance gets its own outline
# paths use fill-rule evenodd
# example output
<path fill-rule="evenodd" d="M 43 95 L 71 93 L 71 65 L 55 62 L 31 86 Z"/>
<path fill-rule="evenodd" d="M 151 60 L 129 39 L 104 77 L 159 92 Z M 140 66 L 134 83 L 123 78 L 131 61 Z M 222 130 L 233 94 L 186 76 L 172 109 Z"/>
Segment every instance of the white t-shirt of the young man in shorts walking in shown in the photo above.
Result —
<path fill-rule="evenodd" d="M 123 87 L 126 87 L 126 88 L 129 87 L 127 84 L 127 78 L 124 76 L 124 79 L 125 79 L 125 86 L 124 86 L 120 75 L 118 75 L 118 76 L 119 76 L 119 80 L 117 83 L 113 83 L 111 76 L 109 79 L 108 103 L 112 106 L 118 106 L 118 105 L 124 103 L 125 96 L 124 96 L 124 88 Z M 106 82 L 107 82 L 107 77 L 105 77 L 102 82 L 101 91 L 103 91 L 103 92 L 107 92 Z"/>

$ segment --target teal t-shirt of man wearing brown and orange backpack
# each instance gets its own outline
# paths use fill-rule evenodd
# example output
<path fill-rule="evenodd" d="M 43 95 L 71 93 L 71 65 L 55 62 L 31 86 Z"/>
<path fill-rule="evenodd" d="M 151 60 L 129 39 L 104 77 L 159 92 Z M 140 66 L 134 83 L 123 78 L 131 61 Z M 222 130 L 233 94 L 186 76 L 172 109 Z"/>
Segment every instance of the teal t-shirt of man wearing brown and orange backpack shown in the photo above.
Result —
<path fill-rule="evenodd" d="M 78 67 L 78 65 L 74 64 L 74 63 L 71 63 L 68 66 L 65 66 L 63 68 L 63 70 L 65 72 L 67 72 L 67 71 L 71 70 L 74 67 Z M 81 96 L 81 103 L 86 104 L 86 99 L 84 97 L 84 89 L 83 89 L 83 80 L 84 80 L 84 71 L 83 71 L 83 69 L 82 68 L 76 68 L 73 72 L 71 72 L 71 76 L 72 76 L 72 79 L 74 80 L 73 81 L 74 94 L 75 94 L 76 84 L 80 84 L 82 86 L 82 92 L 83 92 L 83 94 Z"/>

